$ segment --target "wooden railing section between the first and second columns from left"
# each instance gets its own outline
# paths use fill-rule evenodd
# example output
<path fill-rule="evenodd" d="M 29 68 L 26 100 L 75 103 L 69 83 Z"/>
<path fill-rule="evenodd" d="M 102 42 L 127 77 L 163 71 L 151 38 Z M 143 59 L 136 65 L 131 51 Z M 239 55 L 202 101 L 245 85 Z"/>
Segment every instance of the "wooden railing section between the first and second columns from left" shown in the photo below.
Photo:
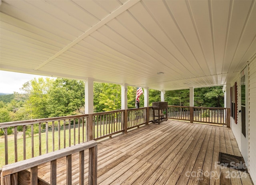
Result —
<path fill-rule="evenodd" d="M 93 114 L 93 139 L 102 139 L 124 132 L 124 110 Z"/>

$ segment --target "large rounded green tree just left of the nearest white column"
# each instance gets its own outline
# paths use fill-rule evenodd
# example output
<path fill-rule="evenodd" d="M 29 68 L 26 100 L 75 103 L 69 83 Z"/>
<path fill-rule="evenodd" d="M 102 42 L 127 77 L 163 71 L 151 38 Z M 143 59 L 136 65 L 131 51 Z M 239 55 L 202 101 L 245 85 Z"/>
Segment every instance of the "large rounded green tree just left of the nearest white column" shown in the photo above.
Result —
<path fill-rule="evenodd" d="M 57 78 L 48 93 L 49 117 L 72 115 L 84 106 L 84 82 Z"/>

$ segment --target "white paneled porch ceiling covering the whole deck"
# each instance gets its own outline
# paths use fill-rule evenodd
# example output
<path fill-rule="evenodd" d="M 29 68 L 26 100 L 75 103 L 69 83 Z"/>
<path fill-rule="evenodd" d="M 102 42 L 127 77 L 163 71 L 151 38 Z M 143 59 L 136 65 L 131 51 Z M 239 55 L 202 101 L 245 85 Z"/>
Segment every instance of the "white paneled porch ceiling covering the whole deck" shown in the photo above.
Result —
<path fill-rule="evenodd" d="M 254 0 L 0 5 L 0 70 L 174 90 L 230 83 L 255 54 Z"/>

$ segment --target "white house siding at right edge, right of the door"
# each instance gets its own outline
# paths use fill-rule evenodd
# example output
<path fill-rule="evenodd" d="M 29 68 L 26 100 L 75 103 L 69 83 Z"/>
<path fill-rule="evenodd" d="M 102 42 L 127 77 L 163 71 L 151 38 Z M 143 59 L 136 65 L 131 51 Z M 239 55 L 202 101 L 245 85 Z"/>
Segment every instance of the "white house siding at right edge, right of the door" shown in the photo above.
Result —
<path fill-rule="evenodd" d="M 249 152 L 248 169 L 252 181 L 256 184 L 256 58 L 248 66 L 248 104 L 249 104 Z"/>

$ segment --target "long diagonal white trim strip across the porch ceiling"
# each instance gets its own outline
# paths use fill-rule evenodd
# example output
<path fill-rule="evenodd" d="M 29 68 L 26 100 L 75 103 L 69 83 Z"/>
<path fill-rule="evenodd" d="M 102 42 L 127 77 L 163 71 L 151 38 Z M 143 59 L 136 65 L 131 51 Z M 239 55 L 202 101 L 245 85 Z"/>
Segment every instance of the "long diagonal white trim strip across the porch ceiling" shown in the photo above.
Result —
<path fill-rule="evenodd" d="M 99 28 L 101 28 L 102 26 L 104 26 L 105 24 L 107 24 L 108 22 L 113 20 L 114 18 L 116 18 L 118 15 L 122 14 L 124 11 L 128 10 L 130 7 L 134 6 L 134 4 L 136 4 L 137 2 L 140 2 L 140 0 L 129 0 L 128 2 L 124 3 L 122 6 L 120 6 L 116 10 L 114 10 L 114 12 L 112 12 L 111 14 L 106 16 L 104 19 L 102 19 L 100 22 L 98 22 L 97 24 L 92 26 L 92 28 L 90 28 L 89 30 L 84 32 L 82 35 L 80 35 L 78 38 L 76 38 L 74 41 L 70 42 L 67 46 L 62 48 L 59 52 L 57 52 L 56 54 L 54 54 L 53 56 L 48 58 L 46 61 L 44 61 L 38 67 L 34 68 L 34 70 L 38 70 L 38 69 L 42 68 L 48 62 L 50 62 L 54 58 L 60 56 L 62 53 L 66 52 L 68 49 L 73 47 L 75 44 L 77 44 L 78 42 L 80 42 L 81 40 L 83 40 L 84 38 L 86 38 L 87 36 L 92 34 L 93 32 L 95 32 L 96 30 L 98 30 Z"/>

